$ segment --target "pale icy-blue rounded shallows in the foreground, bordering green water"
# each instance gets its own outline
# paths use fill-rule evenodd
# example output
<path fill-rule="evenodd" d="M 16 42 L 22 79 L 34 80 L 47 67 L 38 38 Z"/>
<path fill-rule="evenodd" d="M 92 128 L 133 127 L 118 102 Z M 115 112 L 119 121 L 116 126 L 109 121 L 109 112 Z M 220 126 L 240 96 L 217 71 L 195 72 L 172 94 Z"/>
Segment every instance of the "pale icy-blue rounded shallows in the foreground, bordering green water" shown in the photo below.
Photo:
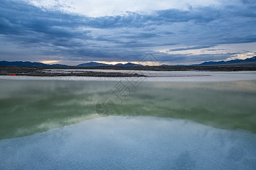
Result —
<path fill-rule="evenodd" d="M 254 169 L 256 134 L 109 116 L 0 141 L 0 169 Z"/>

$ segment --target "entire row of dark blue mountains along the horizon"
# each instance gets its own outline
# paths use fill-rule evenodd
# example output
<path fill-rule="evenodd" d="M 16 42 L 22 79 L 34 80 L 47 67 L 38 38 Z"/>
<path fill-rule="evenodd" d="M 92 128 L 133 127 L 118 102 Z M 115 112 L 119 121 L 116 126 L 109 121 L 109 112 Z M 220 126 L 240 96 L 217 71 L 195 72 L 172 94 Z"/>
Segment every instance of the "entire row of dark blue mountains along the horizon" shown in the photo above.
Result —
<path fill-rule="evenodd" d="M 232 59 L 230 61 L 207 61 L 194 66 L 210 66 L 210 65 L 256 65 L 256 56 L 246 59 Z M 47 66 L 47 67 L 68 67 L 68 65 L 52 64 L 48 65 L 41 62 L 30 62 L 30 61 L 0 61 L 0 66 Z M 116 65 L 108 65 L 100 62 L 88 62 L 81 63 L 77 66 L 93 67 L 93 66 L 121 66 L 121 67 L 134 67 L 144 66 L 135 63 L 128 62 L 126 64 L 117 63 Z M 167 65 L 162 65 L 167 66 Z"/>

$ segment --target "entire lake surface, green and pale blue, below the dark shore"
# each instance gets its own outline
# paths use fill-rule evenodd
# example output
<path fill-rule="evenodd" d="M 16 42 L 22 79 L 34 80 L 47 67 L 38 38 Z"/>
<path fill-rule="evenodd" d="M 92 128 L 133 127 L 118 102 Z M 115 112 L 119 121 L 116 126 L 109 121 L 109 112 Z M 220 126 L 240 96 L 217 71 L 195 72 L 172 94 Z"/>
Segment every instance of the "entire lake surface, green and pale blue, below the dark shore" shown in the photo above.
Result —
<path fill-rule="evenodd" d="M 163 74 L 0 76 L 0 169 L 254 169 L 255 71 Z"/>

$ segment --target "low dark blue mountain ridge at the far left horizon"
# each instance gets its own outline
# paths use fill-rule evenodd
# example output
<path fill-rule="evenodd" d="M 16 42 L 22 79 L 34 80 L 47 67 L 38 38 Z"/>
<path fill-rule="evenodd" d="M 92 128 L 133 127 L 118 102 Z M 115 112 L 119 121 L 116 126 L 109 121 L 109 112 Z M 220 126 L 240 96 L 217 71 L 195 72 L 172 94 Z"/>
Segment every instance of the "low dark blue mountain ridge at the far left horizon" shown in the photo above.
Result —
<path fill-rule="evenodd" d="M 53 65 L 47 65 L 45 63 L 42 62 L 30 62 L 30 61 L 0 61 L 0 66 L 47 66 L 47 67 L 56 67 L 56 66 L 67 66 L 67 65 L 59 65 L 59 64 L 53 64 Z"/>

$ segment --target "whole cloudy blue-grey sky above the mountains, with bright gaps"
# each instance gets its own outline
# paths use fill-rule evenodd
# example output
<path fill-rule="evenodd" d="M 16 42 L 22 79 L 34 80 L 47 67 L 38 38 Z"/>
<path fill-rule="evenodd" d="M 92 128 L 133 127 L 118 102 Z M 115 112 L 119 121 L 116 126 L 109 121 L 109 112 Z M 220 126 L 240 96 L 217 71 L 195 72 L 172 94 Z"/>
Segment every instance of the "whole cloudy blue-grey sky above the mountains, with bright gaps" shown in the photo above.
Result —
<path fill-rule="evenodd" d="M 256 56 L 256 0 L 0 1 L 0 60 L 178 65 Z"/>

